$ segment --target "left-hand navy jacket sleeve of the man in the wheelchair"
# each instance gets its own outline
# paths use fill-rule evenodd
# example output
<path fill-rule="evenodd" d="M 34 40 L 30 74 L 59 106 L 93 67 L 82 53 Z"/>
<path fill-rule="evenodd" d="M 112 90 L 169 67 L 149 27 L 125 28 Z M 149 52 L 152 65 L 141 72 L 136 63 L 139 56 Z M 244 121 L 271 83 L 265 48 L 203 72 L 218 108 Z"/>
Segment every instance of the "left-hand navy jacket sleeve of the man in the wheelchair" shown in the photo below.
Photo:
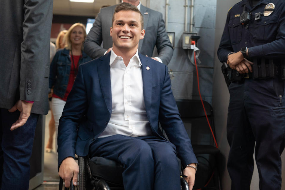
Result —
<path fill-rule="evenodd" d="M 66 100 L 58 125 L 58 169 L 66 157 L 74 157 L 77 126 L 88 108 L 82 65 Z"/>

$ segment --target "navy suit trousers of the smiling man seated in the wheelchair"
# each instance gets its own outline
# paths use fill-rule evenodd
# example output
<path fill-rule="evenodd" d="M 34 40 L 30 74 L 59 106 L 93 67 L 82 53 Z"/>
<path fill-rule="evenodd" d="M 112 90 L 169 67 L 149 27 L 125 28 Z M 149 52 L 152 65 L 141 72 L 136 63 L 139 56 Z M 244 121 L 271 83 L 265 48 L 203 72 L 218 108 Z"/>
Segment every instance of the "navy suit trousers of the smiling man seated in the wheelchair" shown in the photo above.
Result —
<path fill-rule="evenodd" d="M 113 135 L 97 138 L 89 156 L 115 160 L 124 167 L 125 189 L 179 190 L 180 168 L 175 146 L 156 136 Z"/>

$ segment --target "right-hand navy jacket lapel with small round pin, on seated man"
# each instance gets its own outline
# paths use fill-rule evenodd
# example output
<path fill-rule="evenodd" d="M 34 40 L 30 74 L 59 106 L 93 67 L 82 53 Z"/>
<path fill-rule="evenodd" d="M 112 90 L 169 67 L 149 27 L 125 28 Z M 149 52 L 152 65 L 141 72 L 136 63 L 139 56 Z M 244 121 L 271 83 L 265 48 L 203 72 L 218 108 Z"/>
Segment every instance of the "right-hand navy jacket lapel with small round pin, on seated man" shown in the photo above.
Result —
<path fill-rule="evenodd" d="M 146 114 L 149 119 L 151 114 L 152 68 L 150 62 L 148 62 L 148 59 L 144 55 L 139 53 L 139 58 L 142 63 L 143 99 L 145 101 Z M 149 67 L 149 70 L 146 69 L 146 67 Z"/>

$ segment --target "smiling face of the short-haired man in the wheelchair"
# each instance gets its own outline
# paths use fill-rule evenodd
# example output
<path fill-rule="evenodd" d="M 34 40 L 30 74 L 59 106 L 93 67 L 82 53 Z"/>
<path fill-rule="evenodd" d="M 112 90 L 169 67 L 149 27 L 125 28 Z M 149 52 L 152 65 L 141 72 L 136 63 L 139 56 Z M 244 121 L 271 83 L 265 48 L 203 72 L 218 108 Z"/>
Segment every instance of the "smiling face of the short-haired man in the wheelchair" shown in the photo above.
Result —
<path fill-rule="evenodd" d="M 136 51 L 138 43 L 144 35 L 145 30 L 141 26 L 140 13 L 132 10 L 115 13 L 114 22 L 110 28 L 113 50 Z"/>

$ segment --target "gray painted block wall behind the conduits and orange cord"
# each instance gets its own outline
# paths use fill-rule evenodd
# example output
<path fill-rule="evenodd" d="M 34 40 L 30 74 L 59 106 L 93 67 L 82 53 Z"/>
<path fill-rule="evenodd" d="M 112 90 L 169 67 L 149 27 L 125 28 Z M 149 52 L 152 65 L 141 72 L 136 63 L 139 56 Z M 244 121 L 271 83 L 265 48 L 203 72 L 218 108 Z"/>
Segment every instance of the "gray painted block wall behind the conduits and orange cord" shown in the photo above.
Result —
<path fill-rule="evenodd" d="M 162 12 L 164 20 L 165 3 L 165 0 L 142 1 L 142 4 L 147 7 Z M 174 53 L 168 65 L 169 71 L 172 71 L 170 76 L 173 94 L 175 98 L 180 99 L 199 99 L 196 70 L 188 59 L 187 50 L 182 49 L 185 0 L 169 0 L 169 4 L 167 31 L 175 32 Z M 188 0 L 188 5 L 190 4 L 191 1 Z M 188 7 L 188 30 L 190 30 L 190 13 L 190 7 Z M 199 56 L 201 65 L 213 66 L 215 18 L 216 0 L 194 1 L 193 32 L 197 32 L 201 36 L 201 39 L 198 40 L 198 47 L 201 50 Z M 211 104 L 213 69 L 199 68 L 198 72 L 202 98 Z"/>

